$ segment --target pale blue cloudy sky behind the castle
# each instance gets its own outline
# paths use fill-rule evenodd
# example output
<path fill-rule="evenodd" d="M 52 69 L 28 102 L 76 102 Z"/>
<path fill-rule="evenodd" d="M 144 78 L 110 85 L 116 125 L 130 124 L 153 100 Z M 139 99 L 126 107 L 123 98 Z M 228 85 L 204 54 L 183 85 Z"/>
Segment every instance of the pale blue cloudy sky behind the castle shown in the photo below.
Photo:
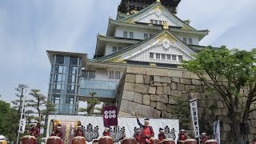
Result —
<path fill-rule="evenodd" d="M 0 94 L 14 100 L 24 83 L 47 94 L 50 62 L 46 50 L 94 54 L 96 35 L 106 34 L 120 0 L 1 0 Z M 255 0 L 182 0 L 178 17 L 210 30 L 201 45 L 250 50 L 256 47 Z M 27 93 L 28 94 L 28 93 Z"/>

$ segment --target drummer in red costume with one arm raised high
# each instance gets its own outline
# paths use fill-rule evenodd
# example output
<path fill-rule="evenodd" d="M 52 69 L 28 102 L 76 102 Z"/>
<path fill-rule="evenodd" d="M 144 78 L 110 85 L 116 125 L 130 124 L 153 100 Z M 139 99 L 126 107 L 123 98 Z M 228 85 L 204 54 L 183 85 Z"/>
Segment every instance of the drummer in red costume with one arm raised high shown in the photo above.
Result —
<path fill-rule="evenodd" d="M 142 125 L 141 122 L 138 120 L 138 115 L 137 115 L 137 122 L 140 127 L 142 127 L 142 139 L 141 143 L 151 143 L 150 138 L 154 137 L 154 130 L 152 126 L 150 126 L 150 119 L 146 118 L 144 119 L 144 125 Z"/>

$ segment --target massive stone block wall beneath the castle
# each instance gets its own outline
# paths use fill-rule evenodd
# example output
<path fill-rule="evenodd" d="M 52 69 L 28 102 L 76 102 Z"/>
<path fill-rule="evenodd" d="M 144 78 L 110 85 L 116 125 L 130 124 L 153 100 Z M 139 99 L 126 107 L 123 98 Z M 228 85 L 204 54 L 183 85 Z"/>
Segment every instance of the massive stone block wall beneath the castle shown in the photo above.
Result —
<path fill-rule="evenodd" d="M 221 120 L 222 142 L 230 143 L 230 119 L 225 102 L 218 94 L 208 92 L 199 78 L 186 70 L 128 66 L 117 94 L 119 115 L 129 116 L 138 110 L 138 114 L 145 117 L 181 118 L 180 122 L 183 117 L 189 119 L 186 127 L 189 130 L 193 129 L 188 104 L 192 98 L 198 99 L 200 131 L 212 134 L 212 122 Z M 179 114 L 184 108 L 179 107 L 180 99 L 186 103 L 185 116 Z M 256 136 L 256 113 L 250 114 L 248 122 L 251 139 Z"/>

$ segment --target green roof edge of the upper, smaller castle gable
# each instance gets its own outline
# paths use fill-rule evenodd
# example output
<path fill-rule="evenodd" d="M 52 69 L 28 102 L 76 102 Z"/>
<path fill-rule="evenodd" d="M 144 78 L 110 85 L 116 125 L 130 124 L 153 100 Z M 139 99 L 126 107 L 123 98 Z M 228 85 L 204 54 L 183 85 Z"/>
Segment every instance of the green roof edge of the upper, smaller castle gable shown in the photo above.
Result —
<path fill-rule="evenodd" d="M 133 18 L 137 17 L 138 15 L 145 13 L 147 10 L 154 9 L 154 7 L 156 7 L 156 6 L 160 6 L 163 10 L 166 10 L 166 12 L 168 14 L 172 15 L 174 18 L 177 18 L 178 21 L 182 22 L 190 30 L 196 30 L 192 26 L 188 25 L 186 22 L 184 22 L 180 18 L 178 18 L 175 14 L 170 12 L 170 10 L 166 9 L 165 6 L 162 6 L 161 2 L 154 2 L 152 5 L 146 7 L 145 9 L 138 11 L 138 13 L 131 14 L 130 16 L 128 16 L 126 18 L 118 19 L 117 22 L 128 22 L 128 21 L 132 20 Z"/>

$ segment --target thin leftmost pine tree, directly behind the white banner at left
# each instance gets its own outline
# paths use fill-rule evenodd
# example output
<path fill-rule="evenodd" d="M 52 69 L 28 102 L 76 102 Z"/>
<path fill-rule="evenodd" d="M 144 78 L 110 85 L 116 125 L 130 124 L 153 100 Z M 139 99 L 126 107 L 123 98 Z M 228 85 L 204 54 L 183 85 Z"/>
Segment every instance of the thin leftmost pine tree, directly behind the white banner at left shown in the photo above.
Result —
<path fill-rule="evenodd" d="M 18 92 L 15 94 L 18 99 L 12 101 L 11 103 L 14 105 L 14 109 L 18 110 L 18 114 L 21 114 L 22 110 L 22 98 L 24 98 L 24 93 L 26 92 L 26 89 L 28 88 L 25 84 L 18 84 L 18 87 L 15 88 L 15 90 Z"/>

